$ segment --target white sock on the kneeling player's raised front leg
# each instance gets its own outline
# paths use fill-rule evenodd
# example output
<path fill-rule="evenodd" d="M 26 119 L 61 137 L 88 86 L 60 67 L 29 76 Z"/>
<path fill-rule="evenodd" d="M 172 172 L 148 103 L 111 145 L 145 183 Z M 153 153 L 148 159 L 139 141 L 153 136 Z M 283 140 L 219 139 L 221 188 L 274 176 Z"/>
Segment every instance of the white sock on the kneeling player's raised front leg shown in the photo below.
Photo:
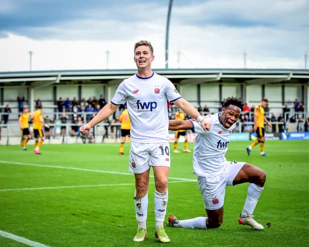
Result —
<path fill-rule="evenodd" d="M 241 212 L 241 216 L 250 216 L 252 215 L 254 208 L 256 207 L 258 198 L 260 197 L 264 187 L 259 187 L 254 183 L 250 183 L 248 186 L 248 194 L 244 208 Z"/>

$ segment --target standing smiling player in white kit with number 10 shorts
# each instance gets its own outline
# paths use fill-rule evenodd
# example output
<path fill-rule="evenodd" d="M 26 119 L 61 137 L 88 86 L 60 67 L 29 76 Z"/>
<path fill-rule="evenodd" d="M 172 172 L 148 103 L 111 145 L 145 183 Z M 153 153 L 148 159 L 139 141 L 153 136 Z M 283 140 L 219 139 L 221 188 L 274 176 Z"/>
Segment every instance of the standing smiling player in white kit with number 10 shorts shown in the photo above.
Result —
<path fill-rule="evenodd" d="M 134 62 L 137 73 L 124 80 L 117 88 L 111 102 L 80 132 L 88 131 L 112 115 L 120 104 L 126 102 L 131 121 L 131 145 L 129 152 L 129 171 L 135 176 L 134 205 L 138 222 L 134 241 L 143 241 L 146 233 L 148 206 L 149 172 L 152 166 L 155 176 L 155 236 L 161 242 L 170 242 L 163 227 L 168 203 L 168 174 L 171 164 L 169 142 L 169 118 L 167 101 L 174 103 L 186 114 L 201 122 L 202 129 L 209 124 L 198 111 L 176 90 L 167 78 L 151 70 L 155 59 L 153 48 L 148 41 L 139 41 L 134 46 Z"/>

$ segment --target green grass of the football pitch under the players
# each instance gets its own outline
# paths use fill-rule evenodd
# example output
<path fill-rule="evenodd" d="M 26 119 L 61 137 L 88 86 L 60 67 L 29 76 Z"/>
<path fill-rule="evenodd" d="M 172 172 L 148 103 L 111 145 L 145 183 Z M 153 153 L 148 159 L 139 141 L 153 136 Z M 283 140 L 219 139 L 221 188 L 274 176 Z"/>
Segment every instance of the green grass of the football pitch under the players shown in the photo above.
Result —
<path fill-rule="evenodd" d="M 265 189 L 254 212 L 265 229 L 253 231 L 238 224 L 247 193 L 247 184 L 241 184 L 227 187 L 221 227 L 168 227 L 170 246 L 309 245 L 309 142 L 267 141 L 265 149 L 270 157 L 260 157 L 259 147 L 248 157 L 245 147 L 249 143 L 231 142 L 227 159 L 246 161 L 266 171 Z M 183 144 L 179 145 L 181 149 Z M 193 143 L 189 147 L 193 148 Z M 117 143 L 43 145 L 43 154 L 34 155 L 33 146 L 28 151 L 22 151 L 20 146 L 0 146 L 0 230 L 55 247 L 158 246 L 153 234 L 152 177 L 148 236 L 141 243 L 132 241 L 137 228 L 134 177 L 119 174 L 128 173 L 128 148 L 126 144 L 125 155 L 119 156 Z M 192 153 L 172 153 L 167 216 L 175 214 L 184 219 L 205 215 L 196 181 L 172 179 L 196 179 L 192 170 Z M 100 186 L 76 187 L 84 185 Z M 40 189 L 7 190 L 21 188 Z M 0 236 L 0 246 L 26 245 Z"/>

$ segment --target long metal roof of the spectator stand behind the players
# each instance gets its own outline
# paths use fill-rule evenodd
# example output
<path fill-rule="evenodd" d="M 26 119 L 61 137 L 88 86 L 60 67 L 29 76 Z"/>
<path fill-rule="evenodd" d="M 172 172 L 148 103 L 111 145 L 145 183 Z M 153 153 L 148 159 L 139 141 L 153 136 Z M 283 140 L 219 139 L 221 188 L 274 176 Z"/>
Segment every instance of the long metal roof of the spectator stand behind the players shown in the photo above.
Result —
<path fill-rule="evenodd" d="M 294 69 L 153 69 L 176 84 L 309 84 L 309 70 Z M 55 70 L 0 72 L 0 86 L 44 87 L 53 84 L 117 84 L 136 73 L 126 70 Z"/>

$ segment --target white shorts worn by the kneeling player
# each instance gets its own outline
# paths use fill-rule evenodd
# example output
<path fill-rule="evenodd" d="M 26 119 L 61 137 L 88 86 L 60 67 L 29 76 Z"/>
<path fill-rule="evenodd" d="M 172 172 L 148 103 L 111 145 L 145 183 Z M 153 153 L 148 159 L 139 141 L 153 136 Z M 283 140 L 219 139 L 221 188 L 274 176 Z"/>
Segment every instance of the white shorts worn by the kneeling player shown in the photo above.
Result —
<path fill-rule="evenodd" d="M 221 174 L 209 177 L 198 176 L 198 185 L 206 209 L 216 210 L 223 207 L 225 187 L 233 186 L 233 180 L 244 164 L 245 162 L 225 161 Z"/>

